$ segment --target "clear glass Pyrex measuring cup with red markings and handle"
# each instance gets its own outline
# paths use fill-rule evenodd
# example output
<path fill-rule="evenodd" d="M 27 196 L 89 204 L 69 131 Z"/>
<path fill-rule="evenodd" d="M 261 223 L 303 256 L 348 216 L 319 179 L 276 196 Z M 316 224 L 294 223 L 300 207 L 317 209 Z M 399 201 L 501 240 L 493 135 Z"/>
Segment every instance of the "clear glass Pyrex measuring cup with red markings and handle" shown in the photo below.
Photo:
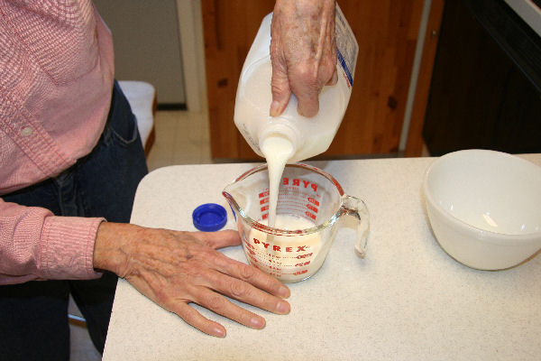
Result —
<path fill-rule="evenodd" d="M 264 224 L 269 215 L 267 164 L 246 171 L 222 194 L 234 211 L 250 264 L 281 282 L 303 281 L 319 270 L 335 239 L 338 220 L 344 215 L 356 219 L 354 249 L 360 257 L 365 255 L 368 208 L 361 199 L 344 194 L 333 176 L 316 167 L 287 164 L 280 181 L 277 217 L 307 223 L 303 229 Z M 280 227 L 278 221 L 277 225 Z"/>

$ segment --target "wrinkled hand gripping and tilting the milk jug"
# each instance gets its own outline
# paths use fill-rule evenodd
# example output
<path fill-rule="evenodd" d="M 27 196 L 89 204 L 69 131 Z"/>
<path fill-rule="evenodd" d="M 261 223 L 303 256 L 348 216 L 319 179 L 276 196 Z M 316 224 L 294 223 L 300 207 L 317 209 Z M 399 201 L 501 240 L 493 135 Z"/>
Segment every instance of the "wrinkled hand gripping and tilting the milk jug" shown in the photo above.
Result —
<path fill-rule="evenodd" d="M 318 95 L 335 85 L 335 0 L 277 0 L 271 24 L 271 116 L 280 116 L 291 92 L 298 114 L 316 116 Z"/>

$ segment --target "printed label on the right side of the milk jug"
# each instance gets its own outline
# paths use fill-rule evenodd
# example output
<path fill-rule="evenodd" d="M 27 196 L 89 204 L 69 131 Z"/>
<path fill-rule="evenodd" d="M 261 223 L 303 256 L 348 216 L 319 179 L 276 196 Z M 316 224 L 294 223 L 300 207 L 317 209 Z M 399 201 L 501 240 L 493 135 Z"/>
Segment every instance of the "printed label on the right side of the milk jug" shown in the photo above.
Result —
<path fill-rule="evenodd" d="M 344 69 L 345 78 L 348 80 L 348 86 L 353 86 L 353 74 L 355 72 L 355 63 L 357 62 L 357 53 L 359 45 L 355 41 L 352 29 L 345 21 L 344 13 L 336 5 L 336 48 L 338 62 Z"/>

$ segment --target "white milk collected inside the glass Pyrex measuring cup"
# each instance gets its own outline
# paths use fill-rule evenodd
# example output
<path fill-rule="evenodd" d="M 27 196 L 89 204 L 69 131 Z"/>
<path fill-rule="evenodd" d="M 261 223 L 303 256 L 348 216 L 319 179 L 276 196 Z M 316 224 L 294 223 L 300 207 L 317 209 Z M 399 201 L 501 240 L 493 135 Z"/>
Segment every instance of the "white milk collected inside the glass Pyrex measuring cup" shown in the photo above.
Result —
<path fill-rule="evenodd" d="M 276 216 L 276 222 L 280 228 L 289 230 L 315 227 L 313 222 L 305 218 L 282 214 Z M 265 220 L 260 223 L 267 226 Z M 317 257 L 322 245 L 317 232 L 304 236 L 275 236 L 252 228 L 248 242 L 252 262 L 261 271 L 280 278 L 282 282 L 307 278 L 325 260 L 325 257 Z M 267 262 L 261 263 L 261 259 Z"/>

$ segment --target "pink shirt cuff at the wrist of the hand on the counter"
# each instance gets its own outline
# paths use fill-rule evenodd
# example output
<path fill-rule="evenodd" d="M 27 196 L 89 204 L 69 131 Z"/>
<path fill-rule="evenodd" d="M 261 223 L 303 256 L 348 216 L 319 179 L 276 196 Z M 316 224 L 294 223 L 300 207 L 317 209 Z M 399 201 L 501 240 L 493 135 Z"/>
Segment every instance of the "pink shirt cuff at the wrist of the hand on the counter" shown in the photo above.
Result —
<path fill-rule="evenodd" d="M 50 280 L 90 280 L 97 228 L 105 218 L 45 218 L 41 234 L 41 274 Z"/>

